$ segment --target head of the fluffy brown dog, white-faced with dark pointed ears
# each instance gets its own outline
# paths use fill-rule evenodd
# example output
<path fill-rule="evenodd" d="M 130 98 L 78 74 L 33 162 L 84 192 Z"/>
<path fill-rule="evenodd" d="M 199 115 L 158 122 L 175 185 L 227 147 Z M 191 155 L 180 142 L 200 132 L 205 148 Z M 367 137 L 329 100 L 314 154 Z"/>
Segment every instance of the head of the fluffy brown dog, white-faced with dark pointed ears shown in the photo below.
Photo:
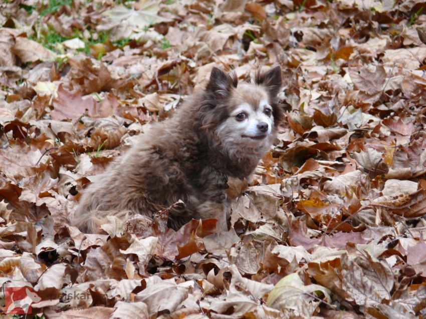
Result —
<path fill-rule="evenodd" d="M 238 84 L 235 73 L 213 68 L 205 89 L 209 109 L 203 114 L 203 125 L 213 127 L 229 150 L 265 152 L 283 119 L 277 97 L 280 88 L 280 67 L 258 71 L 254 84 Z"/>

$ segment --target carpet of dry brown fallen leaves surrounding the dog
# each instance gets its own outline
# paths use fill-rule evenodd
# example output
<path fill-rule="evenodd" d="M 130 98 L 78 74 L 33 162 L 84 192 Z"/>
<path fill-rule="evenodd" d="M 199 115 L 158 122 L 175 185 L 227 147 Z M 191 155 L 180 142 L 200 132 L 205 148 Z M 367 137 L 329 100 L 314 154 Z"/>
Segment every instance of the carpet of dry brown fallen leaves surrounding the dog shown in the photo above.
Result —
<path fill-rule="evenodd" d="M 426 315 L 426 3 L 0 3 L 0 286 L 79 318 Z M 203 85 L 279 64 L 286 123 L 232 228 L 69 225 L 81 192 Z"/>

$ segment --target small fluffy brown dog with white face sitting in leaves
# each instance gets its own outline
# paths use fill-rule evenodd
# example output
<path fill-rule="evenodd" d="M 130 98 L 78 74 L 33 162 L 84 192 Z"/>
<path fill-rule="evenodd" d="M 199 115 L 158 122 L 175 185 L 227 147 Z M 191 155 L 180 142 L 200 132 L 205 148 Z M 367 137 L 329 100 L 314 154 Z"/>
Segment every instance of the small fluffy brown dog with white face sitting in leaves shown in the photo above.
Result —
<path fill-rule="evenodd" d="M 284 116 L 280 88 L 280 67 L 258 71 L 254 84 L 213 68 L 203 90 L 142 134 L 88 186 L 73 224 L 97 232 L 108 215 L 130 211 L 152 217 L 180 199 L 185 212 L 170 213 L 169 227 L 216 218 L 218 229 L 227 229 L 228 177 L 249 176 L 271 147 Z"/>

